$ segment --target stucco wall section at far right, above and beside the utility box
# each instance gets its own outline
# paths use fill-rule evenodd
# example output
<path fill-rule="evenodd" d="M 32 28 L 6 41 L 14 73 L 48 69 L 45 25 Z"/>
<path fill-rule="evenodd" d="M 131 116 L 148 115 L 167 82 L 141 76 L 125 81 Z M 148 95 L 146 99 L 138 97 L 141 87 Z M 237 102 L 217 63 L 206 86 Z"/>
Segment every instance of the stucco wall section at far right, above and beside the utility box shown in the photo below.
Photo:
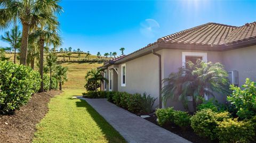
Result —
<path fill-rule="evenodd" d="M 246 78 L 256 81 L 256 45 L 222 52 L 222 59 L 227 71 L 238 71 L 239 86 Z"/>

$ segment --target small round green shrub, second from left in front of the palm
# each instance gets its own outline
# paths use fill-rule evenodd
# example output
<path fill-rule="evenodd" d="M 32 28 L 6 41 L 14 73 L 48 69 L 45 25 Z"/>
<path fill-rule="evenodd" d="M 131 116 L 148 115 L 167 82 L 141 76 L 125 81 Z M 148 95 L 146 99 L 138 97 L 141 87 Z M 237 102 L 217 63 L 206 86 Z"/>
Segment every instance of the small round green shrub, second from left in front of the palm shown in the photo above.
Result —
<path fill-rule="evenodd" d="M 190 125 L 190 115 L 187 112 L 175 111 L 174 112 L 174 124 L 186 129 Z"/>

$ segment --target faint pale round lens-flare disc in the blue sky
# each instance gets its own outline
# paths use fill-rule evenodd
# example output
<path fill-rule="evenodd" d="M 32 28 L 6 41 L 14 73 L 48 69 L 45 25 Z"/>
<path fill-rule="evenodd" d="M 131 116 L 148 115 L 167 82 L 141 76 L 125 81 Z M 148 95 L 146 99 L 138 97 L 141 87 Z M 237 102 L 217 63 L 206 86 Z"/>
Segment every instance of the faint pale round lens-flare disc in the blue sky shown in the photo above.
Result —
<path fill-rule="evenodd" d="M 146 19 L 140 23 L 140 33 L 147 38 L 154 38 L 160 26 L 154 19 Z"/>

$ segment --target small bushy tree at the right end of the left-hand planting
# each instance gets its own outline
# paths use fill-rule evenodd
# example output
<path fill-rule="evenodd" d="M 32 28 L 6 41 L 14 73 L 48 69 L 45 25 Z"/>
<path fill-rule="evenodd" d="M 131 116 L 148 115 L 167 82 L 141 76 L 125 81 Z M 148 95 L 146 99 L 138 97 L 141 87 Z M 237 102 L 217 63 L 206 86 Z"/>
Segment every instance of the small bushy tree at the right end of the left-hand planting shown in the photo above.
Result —
<path fill-rule="evenodd" d="M 68 69 L 66 67 L 62 67 L 61 65 L 57 65 L 53 74 L 53 77 L 57 79 L 59 82 L 60 90 L 62 90 L 62 85 L 65 81 L 68 80 L 67 78 Z"/>

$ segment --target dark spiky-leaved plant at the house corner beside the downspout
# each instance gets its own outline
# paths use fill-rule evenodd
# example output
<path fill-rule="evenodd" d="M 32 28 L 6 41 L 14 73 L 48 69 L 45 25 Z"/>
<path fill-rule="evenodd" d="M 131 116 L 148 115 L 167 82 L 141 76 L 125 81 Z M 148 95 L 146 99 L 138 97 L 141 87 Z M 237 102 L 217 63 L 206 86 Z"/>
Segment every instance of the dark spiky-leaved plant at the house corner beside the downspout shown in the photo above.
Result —
<path fill-rule="evenodd" d="M 153 111 L 153 106 L 157 98 L 150 97 L 150 95 L 147 95 L 147 93 L 144 92 L 141 99 L 142 113 L 150 114 Z"/>

